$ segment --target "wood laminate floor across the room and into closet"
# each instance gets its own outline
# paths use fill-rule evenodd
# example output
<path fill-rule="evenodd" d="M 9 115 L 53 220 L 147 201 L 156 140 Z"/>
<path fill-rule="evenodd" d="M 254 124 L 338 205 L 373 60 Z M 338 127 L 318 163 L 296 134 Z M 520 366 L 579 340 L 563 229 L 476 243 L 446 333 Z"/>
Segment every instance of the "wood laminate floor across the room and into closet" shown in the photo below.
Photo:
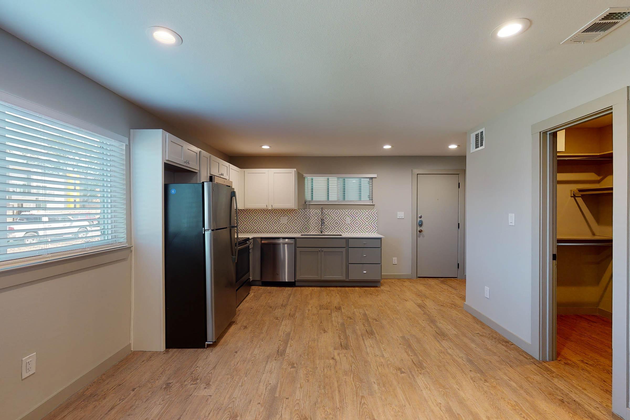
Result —
<path fill-rule="evenodd" d="M 609 324 L 561 317 L 560 358 L 542 363 L 464 311 L 464 293 L 253 287 L 218 344 L 133 352 L 46 419 L 616 418 Z"/>

